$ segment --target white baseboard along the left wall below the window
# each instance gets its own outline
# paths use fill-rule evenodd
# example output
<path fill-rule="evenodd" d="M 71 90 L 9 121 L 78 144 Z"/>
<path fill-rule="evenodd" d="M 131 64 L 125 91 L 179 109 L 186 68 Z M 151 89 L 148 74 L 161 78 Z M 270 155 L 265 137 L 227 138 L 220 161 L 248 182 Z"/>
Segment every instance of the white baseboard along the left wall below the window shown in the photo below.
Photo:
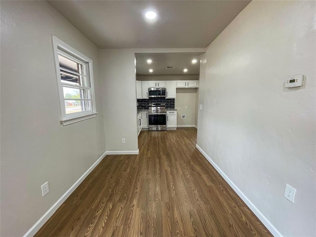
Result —
<path fill-rule="evenodd" d="M 66 193 L 61 196 L 49 209 L 46 211 L 44 215 L 40 217 L 40 219 L 28 230 L 27 233 L 23 237 L 33 237 L 40 228 L 46 223 L 46 221 L 55 213 L 55 211 L 64 203 L 64 201 L 78 188 L 78 186 L 82 183 L 82 181 L 91 173 L 91 171 L 101 162 L 103 158 L 107 155 L 107 152 L 103 153 L 103 155 L 98 158 L 84 174 L 71 186 Z"/>

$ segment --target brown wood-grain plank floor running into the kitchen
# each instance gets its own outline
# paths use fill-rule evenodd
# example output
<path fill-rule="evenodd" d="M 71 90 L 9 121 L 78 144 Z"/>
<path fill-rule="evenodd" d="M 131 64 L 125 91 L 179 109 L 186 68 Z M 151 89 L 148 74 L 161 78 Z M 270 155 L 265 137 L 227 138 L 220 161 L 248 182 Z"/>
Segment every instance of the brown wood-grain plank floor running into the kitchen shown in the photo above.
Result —
<path fill-rule="evenodd" d="M 104 158 L 36 237 L 271 237 L 196 139 L 142 131 L 140 154 Z"/>

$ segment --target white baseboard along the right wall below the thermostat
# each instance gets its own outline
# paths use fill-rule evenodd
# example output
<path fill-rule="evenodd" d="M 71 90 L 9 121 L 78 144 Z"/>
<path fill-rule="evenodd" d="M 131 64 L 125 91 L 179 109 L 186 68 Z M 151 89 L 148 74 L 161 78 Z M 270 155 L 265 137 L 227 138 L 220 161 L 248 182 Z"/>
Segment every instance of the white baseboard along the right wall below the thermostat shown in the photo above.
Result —
<path fill-rule="evenodd" d="M 271 234 L 275 237 L 283 237 L 281 233 L 278 232 L 276 227 L 258 210 L 258 208 L 246 197 L 240 189 L 233 183 L 233 181 L 217 166 L 217 164 L 206 155 L 206 153 L 196 145 L 197 150 L 199 150 L 202 155 L 211 163 L 211 165 L 217 170 L 217 172 L 225 179 L 225 181 L 232 187 L 232 189 L 237 193 L 237 195 L 246 203 L 246 205 L 252 210 L 252 212 L 259 218 L 259 220 L 267 227 Z"/>

